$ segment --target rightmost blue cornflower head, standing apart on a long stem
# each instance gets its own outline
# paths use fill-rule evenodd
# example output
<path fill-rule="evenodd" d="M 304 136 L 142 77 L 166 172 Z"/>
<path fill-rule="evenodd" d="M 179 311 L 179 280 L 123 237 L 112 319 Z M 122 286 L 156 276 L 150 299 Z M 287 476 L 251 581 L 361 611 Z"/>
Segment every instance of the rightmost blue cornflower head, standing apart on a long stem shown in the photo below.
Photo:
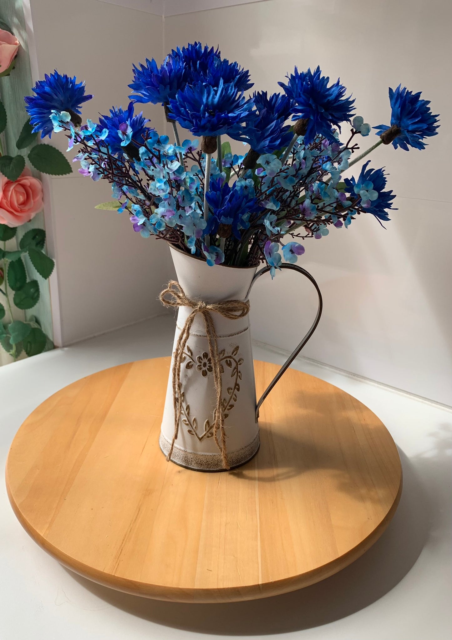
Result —
<path fill-rule="evenodd" d="M 389 102 L 391 102 L 391 126 L 398 127 L 400 134 L 392 140 L 394 149 L 401 147 L 408 151 L 409 147 L 424 149 L 424 138 L 437 135 L 439 127 L 438 114 L 433 115 L 430 100 L 421 100 L 421 92 L 412 93 L 407 87 L 401 85 L 392 91 L 389 88 Z M 384 124 L 373 127 L 378 129 L 376 135 L 380 136 L 390 127 Z"/>

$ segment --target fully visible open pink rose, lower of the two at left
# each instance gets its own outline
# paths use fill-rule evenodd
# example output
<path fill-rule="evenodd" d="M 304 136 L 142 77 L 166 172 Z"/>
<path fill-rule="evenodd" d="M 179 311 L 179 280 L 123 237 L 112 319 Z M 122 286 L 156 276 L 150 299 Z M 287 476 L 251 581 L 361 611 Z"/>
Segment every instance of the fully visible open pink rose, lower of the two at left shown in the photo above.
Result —
<path fill-rule="evenodd" d="M 0 224 L 20 227 L 42 209 L 42 182 L 25 168 L 17 180 L 0 177 Z"/>

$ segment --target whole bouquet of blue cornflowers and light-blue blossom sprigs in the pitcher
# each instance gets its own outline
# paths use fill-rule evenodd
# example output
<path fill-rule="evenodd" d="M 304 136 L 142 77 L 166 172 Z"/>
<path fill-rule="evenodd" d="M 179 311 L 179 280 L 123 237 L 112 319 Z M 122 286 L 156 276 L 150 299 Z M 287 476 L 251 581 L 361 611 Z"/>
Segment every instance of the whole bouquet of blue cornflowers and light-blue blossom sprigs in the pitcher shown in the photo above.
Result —
<path fill-rule="evenodd" d="M 383 169 L 367 161 L 358 177 L 341 181 L 341 173 L 381 144 L 423 149 L 439 126 L 428 100 L 399 85 L 389 89 L 391 125 L 373 127 L 379 140 L 353 157 L 371 127 L 354 114 L 339 79 L 330 84 L 319 67 L 295 67 L 279 84 L 284 93 L 246 97 L 248 70 L 195 42 L 161 66 L 134 66 L 129 106 L 113 107 L 99 122 L 82 125 L 81 105 L 92 96 L 56 70 L 25 100 L 34 132 L 65 131 L 69 149 L 79 148 L 79 172 L 111 183 L 115 202 L 99 208 L 127 211 L 141 236 L 163 238 L 209 265 L 266 262 L 273 276 L 282 256 L 296 262 L 303 254 L 300 239 L 347 228 L 360 214 L 388 221 L 395 196 Z M 134 112 L 147 102 L 163 106 L 174 141 Z M 344 123 L 351 127 L 341 142 Z M 200 143 L 181 143 L 177 125 Z M 242 141 L 247 152 L 232 154 L 222 136 Z"/>

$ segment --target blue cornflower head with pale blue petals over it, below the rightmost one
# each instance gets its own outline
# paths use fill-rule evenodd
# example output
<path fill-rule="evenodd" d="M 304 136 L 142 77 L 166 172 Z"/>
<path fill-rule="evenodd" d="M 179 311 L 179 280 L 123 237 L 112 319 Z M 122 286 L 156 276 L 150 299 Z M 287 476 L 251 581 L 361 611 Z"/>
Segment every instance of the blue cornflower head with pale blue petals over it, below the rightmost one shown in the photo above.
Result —
<path fill-rule="evenodd" d="M 354 177 L 345 178 L 345 191 L 350 193 L 351 198 L 355 199 L 359 196 L 361 202 L 360 207 L 363 211 L 371 213 L 379 220 L 391 220 L 387 211 L 392 209 L 392 200 L 396 197 L 391 191 L 383 191 L 386 186 L 386 176 L 383 169 L 367 169 L 367 164 L 362 166 L 358 180 Z M 396 210 L 396 209 L 395 209 Z"/>

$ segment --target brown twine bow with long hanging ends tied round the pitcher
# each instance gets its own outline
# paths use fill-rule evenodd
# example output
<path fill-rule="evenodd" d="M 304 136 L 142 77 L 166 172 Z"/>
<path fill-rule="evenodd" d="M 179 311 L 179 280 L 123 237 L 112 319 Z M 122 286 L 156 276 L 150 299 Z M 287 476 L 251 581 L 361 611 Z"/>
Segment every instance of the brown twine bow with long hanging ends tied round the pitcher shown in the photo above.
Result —
<path fill-rule="evenodd" d="M 181 383 L 181 364 L 184 358 L 184 350 L 190 336 L 191 325 L 197 314 L 202 314 L 204 323 L 206 324 L 207 342 L 209 343 L 209 355 L 211 357 L 213 379 L 216 391 L 216 404 L 213 412 L 213 437 L 215 443 L 222 454 L 223 467 L 229 469 L 227 460 L 226 434 L 224 426 L 223 412 L 223 394 L 222 394 L 222 372 L 220 358 L 218 356 L 218 335 L 216 335 L 213 323 L 212 312 L 220 314 L 229 320 L 237 320 L 245 317 L 250 310 L 250 303 L 241 300 L 226 300 L 224 302 L 214 302 L 207 304 L 202 300 L 190 300 L 182 290 L 179 282 L 170 280 L 168 287 L 164 289 L 160 296 L 160 301 L 165 307 L 191 307 L 192 311 L 185 321 L 182 331 L 177 339 L 174 350 L 173 362 L 173 404 L 174 404 L 174 436 L 171 443 L 170 451 L 166 460 L 171 459 L 174 449 L 174 442 L 177 440 L 179 433 L 179 422 L 182 413 L 182 383 Z M 220 431 L 220 441 L 218 440 L 218 431 Z"/>

